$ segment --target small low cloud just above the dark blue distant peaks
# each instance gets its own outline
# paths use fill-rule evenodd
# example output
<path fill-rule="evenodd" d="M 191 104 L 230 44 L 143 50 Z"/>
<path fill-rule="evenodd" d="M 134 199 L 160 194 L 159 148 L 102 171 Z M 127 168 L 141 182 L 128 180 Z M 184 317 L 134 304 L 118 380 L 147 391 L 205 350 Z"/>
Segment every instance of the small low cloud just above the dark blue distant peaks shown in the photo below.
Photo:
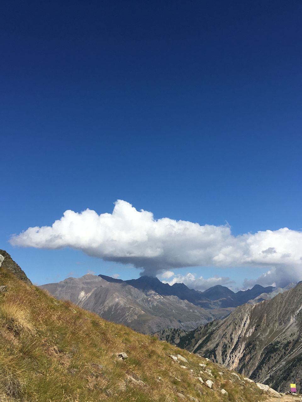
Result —
<path fill-rule="evenodd" d="M 170 279 L 170 281 L 163 281 L 163 283 L 169 283 L 169 285 L 174 285 L 174 283 L 184 283 L 190 289 L 204 291 L 215 285 L 232 287 L 232 284 L 235 283 L 235 281 L 231 281 L 228 277 L 219 276 L 205 279 L 202 276 L 196 277 L 196 274 L 187 273 L 186 275 L 176 275 L 174 278 Z"/>

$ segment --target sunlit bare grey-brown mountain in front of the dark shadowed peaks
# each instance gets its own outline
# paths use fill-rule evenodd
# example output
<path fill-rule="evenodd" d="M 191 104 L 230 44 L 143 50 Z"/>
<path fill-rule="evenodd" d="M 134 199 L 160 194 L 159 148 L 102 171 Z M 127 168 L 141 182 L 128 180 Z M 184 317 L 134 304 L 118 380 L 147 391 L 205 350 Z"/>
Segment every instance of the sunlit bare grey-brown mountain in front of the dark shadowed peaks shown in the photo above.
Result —
<path fill-rule="evenodd" d="M 106 320 L 127 325 L 141 333 L 153 333 L 167 327 L 193 329 L 213 320 L 205 309 L 174 295 L 141 291 L 127 283 L 107 281 L 91 274 L 67 278 L 41 288 L 58 299 L 68 299 Z"/>

